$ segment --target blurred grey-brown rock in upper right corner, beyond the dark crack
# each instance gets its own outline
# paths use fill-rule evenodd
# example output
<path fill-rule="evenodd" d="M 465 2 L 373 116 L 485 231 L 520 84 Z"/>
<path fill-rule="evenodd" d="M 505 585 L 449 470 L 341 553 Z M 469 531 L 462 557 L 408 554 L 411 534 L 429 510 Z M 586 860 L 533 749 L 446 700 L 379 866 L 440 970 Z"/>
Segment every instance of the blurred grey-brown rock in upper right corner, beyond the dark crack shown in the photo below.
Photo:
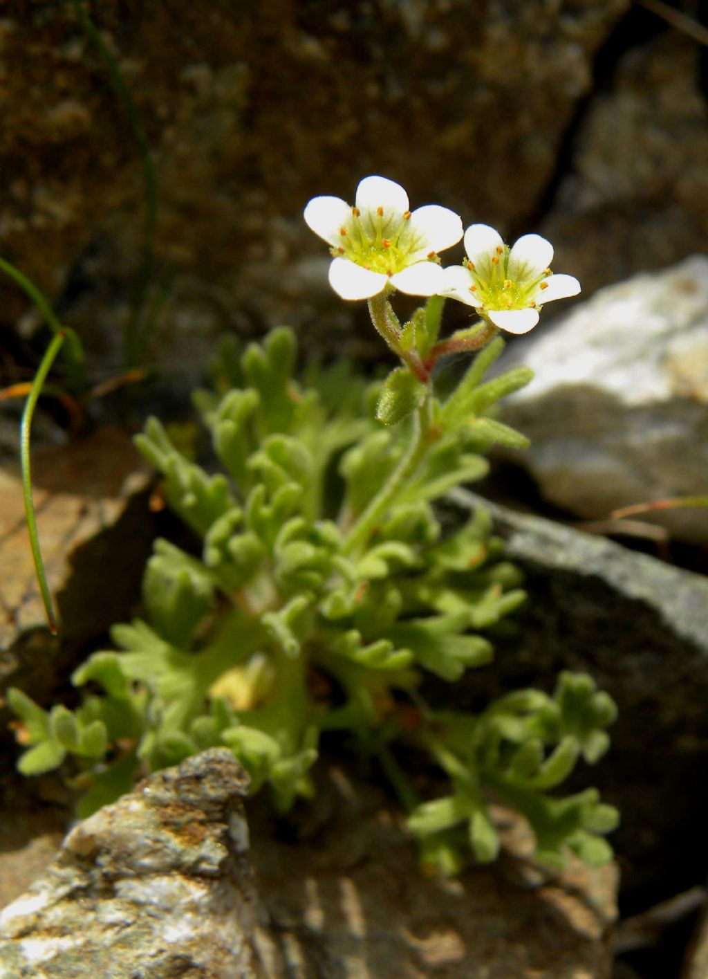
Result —
<path fill-rule="evenodd" d="M 635 28 L 640 19 L 647 27 L 659 24 L 637 6 L 634 19 Z M 684 33 L 664 31 L 630 48 L 588 102 L 569 170 L 542 226 L 563 269 L 586 290 L 705 248 L 708 122 L 701 57 L 700 46 Z"/>

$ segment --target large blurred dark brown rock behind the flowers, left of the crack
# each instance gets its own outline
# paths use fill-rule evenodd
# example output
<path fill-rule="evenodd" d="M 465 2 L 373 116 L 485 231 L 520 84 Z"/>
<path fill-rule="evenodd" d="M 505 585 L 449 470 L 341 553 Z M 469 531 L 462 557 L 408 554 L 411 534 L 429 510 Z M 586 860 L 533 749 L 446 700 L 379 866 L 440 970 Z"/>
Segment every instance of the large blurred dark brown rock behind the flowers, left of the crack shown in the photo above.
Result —
<path fill-rule="evenodd" d="M 175 372 L 194 372 L 225 326 L 314 323 L 327 254 L 302 208 L 351 199 L 367 173 L 468 222 L 525 225 L 628 6 L 200 0 L 177 18 L 138 0 L 93 6 L 155 154 L 170 269 L 155 353 L 174 343 Z M 142 235 L 134 138 L 70 4 L 11 5 L 1 26 L 0 253 L 53 299 L 72 275 L 68 318 L 113 362 Z M 0 295 L 12 323 L 27 304 L 15 287 Z M 340 350 L 352 307 L 332 309 L 317 341 Z"/>

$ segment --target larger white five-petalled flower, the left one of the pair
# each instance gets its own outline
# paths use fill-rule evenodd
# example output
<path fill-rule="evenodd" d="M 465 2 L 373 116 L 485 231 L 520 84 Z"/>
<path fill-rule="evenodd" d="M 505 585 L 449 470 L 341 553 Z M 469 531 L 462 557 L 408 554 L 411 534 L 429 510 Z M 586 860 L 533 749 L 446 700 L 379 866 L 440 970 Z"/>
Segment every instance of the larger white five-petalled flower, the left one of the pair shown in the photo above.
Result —
<path fill-rule="evenodd" d="M 353 208 L 338 197 L 315 197 L 304 216 L 332 246 L 330 284 L 344 300 L 370 299 L 389 286 L 434 296 L 444 281 L 437 253 L 463 237 L 458 214 L 436 204 L 409 210 L 403 187 L 385 177 L 365 177 Z"/>

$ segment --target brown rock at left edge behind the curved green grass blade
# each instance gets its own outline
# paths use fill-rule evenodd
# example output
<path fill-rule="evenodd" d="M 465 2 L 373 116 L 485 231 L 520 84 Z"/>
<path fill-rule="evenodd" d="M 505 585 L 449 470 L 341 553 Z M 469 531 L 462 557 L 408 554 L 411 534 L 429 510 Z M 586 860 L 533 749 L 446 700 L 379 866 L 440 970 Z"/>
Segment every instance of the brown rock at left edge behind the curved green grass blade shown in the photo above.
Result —
<path fill-rule="evenodd" d="M 153 522 L 149 472 L 129 437 L 99 430 L 32 454 L 37 526 L 60 635 L 46 626 L 17 468 L 0 470 L 0 691 L 42 700 L 57 670 L 124 618 L 140 595 Z M 8 717 L 0 711 L 0 724 Z"/>

